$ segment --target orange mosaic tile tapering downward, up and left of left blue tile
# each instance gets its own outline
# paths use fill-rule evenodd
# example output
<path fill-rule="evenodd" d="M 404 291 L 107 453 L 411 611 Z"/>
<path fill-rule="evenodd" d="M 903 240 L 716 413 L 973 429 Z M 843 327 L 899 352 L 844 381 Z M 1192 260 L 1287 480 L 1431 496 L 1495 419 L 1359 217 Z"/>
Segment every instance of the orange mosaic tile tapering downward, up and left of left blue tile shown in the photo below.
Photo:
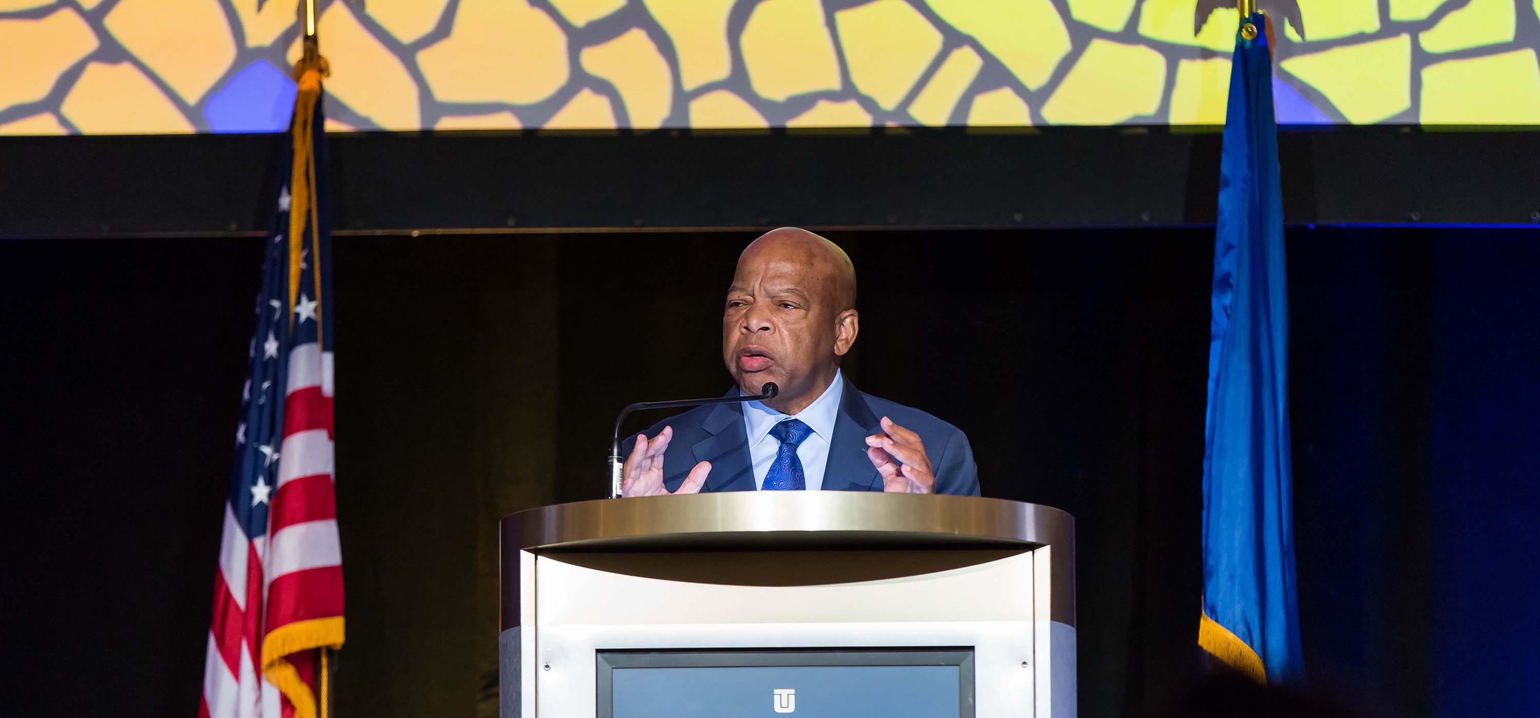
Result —
<path fill-rule="evenodd" d="M 236 60 L 236 38 L 217 0 L 120 0 L 106 14 L 106 29 L 188 105 Z"/>

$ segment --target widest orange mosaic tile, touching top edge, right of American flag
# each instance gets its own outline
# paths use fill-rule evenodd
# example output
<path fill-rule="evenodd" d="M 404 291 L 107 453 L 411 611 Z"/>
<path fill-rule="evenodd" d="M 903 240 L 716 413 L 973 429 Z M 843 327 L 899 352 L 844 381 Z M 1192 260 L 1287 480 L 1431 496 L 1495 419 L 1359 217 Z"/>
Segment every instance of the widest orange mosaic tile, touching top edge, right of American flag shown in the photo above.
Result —
<path fill-rule="evenodd" d="M 450 37 L 417 52 L 417 68 L 440 101 L 536 103 L 567 85 L 567 35 L 524 0 L 460 0 Z"/>

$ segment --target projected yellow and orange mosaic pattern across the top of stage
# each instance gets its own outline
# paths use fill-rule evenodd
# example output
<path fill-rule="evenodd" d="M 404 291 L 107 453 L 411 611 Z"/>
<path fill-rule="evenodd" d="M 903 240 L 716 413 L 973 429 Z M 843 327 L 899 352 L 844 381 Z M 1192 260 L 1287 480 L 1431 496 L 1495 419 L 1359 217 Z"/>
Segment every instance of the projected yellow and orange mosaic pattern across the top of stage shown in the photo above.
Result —
<path fill-rule="evenodd" d="M 320 38 L 333 131 L 1223 123 L 1197 2 L 331 0 Z M 1297 2 L 1280 121 L 1540 123 L 1540 0 Z M 0 0 L 0 134 L 283 129 L 294 18 Z"/>

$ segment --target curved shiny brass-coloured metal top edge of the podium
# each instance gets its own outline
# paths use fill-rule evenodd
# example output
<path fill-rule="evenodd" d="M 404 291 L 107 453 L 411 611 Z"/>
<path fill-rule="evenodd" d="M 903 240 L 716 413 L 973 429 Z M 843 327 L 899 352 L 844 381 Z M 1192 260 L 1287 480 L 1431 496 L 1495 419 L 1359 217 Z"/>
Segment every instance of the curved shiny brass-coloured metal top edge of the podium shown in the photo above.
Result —
<path fill-rule="evenodd" d="M 849 490 L 605 498 L 502 520 L 505 549 L 785 549 L 829 544 L 1053 546 L 1072 553 L 1075 520 L 1001 498 Z"/>

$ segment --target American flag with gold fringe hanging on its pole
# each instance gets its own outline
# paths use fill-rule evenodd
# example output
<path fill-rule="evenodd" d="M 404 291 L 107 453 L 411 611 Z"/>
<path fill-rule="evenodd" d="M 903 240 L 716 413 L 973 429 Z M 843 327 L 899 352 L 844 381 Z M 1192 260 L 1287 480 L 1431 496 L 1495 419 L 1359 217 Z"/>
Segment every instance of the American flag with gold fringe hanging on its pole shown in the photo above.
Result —
<path fill-rule="evenodd" d="M 342 644 L 331 238 L 316 181 L 323 166 L 322 72 L 320 61 L 302 61 L 297 71 L 293 172 L 265 243 L 200 718 L 325 716 L 320 649 Z"/>

